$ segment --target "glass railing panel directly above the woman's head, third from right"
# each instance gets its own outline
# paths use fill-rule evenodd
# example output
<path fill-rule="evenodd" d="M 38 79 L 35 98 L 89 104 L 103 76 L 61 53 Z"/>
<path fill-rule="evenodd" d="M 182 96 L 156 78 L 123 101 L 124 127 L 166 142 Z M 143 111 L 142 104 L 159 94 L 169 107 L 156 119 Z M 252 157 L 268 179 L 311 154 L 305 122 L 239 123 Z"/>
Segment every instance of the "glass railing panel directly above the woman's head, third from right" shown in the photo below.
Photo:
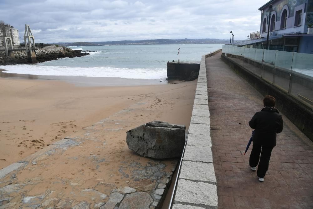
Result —
<path fill-rule="evenodd" d="M 276 56 L 275 50 L 264 50 L 262 78 L 271 84 L 273 84 L 274 78 L 275 56 Z"/>

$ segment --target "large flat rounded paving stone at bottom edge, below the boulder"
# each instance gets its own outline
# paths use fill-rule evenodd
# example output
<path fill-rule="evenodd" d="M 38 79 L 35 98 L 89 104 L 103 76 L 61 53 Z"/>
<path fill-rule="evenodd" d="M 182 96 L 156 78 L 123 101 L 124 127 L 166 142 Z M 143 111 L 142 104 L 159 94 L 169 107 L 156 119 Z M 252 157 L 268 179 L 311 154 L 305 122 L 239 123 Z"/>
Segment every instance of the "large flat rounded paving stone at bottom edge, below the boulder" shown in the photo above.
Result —
<path fill-rule="evenodd" d="M 153 202 L 151 196 L 146 192 L 135 192 L 126 195 L 126 197 L 121 202 L 119 209 L 142 209 L 149 208 L 150 204 Z"/>

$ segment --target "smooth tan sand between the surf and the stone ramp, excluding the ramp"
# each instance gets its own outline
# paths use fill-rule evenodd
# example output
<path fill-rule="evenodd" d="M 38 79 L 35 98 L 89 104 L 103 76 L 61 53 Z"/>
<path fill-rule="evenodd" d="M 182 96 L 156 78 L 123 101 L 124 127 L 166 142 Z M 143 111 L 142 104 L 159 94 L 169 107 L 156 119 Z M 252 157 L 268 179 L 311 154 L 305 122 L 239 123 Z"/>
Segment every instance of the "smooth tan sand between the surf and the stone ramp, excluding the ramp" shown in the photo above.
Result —
<path fill-rule="evenodd" d="M 128 129 L 151 120 L 188 127 L 195 85 L 193 81 L 92 86 L 88 78 L 84 86 L 77 86 L 55 80 L 0 78 L 0 169 L 66 136 L 79 135 L 84 127 L 138 102 L 145 103 L 150 113 L 135 113 Z"/>

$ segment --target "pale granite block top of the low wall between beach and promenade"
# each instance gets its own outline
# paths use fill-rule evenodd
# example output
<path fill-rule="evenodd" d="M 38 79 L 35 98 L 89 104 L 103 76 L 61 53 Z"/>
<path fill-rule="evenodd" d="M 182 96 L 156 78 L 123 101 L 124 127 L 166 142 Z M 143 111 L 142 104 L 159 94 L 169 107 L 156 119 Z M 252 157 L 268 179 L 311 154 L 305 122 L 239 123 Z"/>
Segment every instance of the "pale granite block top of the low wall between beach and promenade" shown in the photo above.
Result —
<path fill-rule="evenodd" d="M 203 55 L 201 58 L 187 145 L 172 208 L 218 207 L 210 137 L 211 126 L 205 58 L 211 57 L 219 51 L 221 50 Z"/>

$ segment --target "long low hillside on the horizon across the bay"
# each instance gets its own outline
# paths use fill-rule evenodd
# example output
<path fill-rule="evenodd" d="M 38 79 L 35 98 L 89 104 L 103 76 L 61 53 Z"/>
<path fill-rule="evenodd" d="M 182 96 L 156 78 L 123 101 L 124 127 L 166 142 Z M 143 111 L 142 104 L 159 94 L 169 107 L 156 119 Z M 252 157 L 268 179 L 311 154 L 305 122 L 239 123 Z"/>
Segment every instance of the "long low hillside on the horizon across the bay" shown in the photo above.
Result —
<path fill-rule="evenodd" d="M 61 46 L 101 46 L 101 45 L 149 45 L 149 44 L 227 44 L 226 39 L 148 39 L 101 42 L 53 43 Z"/>

